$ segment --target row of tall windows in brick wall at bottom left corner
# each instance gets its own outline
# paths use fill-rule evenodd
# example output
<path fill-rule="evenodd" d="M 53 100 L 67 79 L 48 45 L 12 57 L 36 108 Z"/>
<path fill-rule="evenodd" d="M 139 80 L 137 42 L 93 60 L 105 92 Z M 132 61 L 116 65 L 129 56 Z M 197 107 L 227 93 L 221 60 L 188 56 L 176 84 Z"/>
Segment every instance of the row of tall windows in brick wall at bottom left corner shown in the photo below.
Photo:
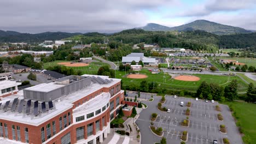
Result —
<path fill-rule="evenodd" d="M 15 132 L 15 128 L 17 131 L 17 137 L 16 137 L 16 132 Z M 29 143 L 28 140 L 28 128 L 24 128 L 25 131 L 25 142 Z M 8 138 L 8 125 L 6 123 L 4 123 L 4 133 L 3 133 L 3 123 L 0 123 L 0 136 L 4 136 L 3 134 L 5 134 L 5 137 Z M 13 140 L 17 140 L 17 141 L 21 141 L 21 136 L 20 136 L 20 126 L 16 125 L 11 125 L 11 135 L 13 136 Z"/>

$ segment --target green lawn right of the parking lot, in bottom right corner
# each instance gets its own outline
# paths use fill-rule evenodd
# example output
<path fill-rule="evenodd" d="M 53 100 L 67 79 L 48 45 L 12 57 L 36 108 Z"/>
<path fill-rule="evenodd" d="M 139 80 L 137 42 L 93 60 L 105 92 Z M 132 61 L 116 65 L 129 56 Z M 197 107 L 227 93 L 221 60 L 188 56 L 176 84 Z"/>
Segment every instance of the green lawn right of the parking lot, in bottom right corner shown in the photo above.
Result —
<path fill-rule="evenodd" d="M 246 142 L 247 136 L 250 137 L 251 142 L 256 141 L 256 105 L 245 102 L 226 101 L 224 104 L 232 105 L 237 113 L 238 121 L 241 123 L 241 127 L 246 131 L 245 136 L 242 137 L 243 142 Z"/>

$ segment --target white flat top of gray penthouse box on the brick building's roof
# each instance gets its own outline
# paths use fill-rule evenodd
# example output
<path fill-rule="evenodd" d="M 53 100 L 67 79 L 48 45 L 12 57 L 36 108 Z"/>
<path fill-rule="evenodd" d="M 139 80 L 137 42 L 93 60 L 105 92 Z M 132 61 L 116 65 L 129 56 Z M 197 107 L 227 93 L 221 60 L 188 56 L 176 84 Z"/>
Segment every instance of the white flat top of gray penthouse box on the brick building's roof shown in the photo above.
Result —
<path fill-rule="evenodd" d="M 28 87 L 26 88 L 26 90 L 37 91 L 37 92 L 50 92 L 50 91 L 53 91 L 54 89 L 64 87 L 64 86 L 66 85 L 56 84 L 56 82 L 49 82 L 49 83 L 41 83 L 33 87 Z"/>

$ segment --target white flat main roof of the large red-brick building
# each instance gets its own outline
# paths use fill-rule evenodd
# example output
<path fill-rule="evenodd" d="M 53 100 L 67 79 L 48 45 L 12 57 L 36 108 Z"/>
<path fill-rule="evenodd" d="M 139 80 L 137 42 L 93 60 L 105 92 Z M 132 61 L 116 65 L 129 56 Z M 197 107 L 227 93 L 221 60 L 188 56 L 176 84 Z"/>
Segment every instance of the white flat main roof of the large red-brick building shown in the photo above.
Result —
<path fill-rule="evenodd" d="M 98 76 L 98 75 L 83 75 L 83 76 Z M 100 77 L 109 79 L 108 76 L 100 76 Z M 0 119 L 6 119 L 8 121 L 19 122 L 19 123 L 26 123 L 26 124 L 30 124 L 30 125 L 40 125 L 43 122 L 48 121 L 48 119 L 53 118 L 53 117 L 59 115 L 60 113 L 73 107 L 72 103 L 74 103 L 74 101 L 77 101 L 91 93 L 94 93 L 95 91 L 98 91 L 98 89 L 101 89 L 103 87 L 113 86 L 115 83 L 118 83 L 121 81 L 121 79 L 112 79 L 112 80 L 113 81 L 111 81 L 110 83 L 103 84 L 103 85 L 100 85 L 99 83 L 92 83 L 92 85 L 85 87 L 83 89 L 80 89 L 77 92 L 74 92 L 74 93 L 71 93 L 68 95 L 64 95 L 63 97 L 59 98 L 60 99 L 59 102 L 58 102 L 58 99 L 53 101 L 53 104 L 54 104 L 53 110 L 49 110 L 44 113 L 39 113 L 38 116 L 34 116 L 32 114 L 26 115 L 25 113 L 11 112 L 10 110 L 4 112 L 4 110 L 1 109 L 0 110 Z M 49 83 L 45 83 L 45 84 L 49 84 Z M 106 94 L 104 94 L 104 95 L 106 95 Z M 8 100 L 11 100 L 11 103 L 12 103 L 14 98 L 24 99 L 23 91 L 20 91 L 18 94 L 15 94 L 15 95 L 11 95 L 9 97 L 2 98 L 0 103 L 2 103 L 2 105 L 3 105 L 3 103 Z M 87 101 L 84 106 L 89 107 L 89 105 L 90 105 L 91 107 L 94 107 L 93 105 L 98 104 L 99 99 L 101 99 L 101 98 L 95 97 L 95 98 Z M 94 100 L 96 100 L 96 101 L 94 101 Z M 86 105 L 87 103 L 89 103 L 89 105 Z M 80 105 L 80 106 L 82 106 L 82 105 Z M 77 110 L 80 109 L 79 107 L 77 107 Z M 16 111 L 17 111 L 17 109 L 18 108 L 16 108 Z"/>

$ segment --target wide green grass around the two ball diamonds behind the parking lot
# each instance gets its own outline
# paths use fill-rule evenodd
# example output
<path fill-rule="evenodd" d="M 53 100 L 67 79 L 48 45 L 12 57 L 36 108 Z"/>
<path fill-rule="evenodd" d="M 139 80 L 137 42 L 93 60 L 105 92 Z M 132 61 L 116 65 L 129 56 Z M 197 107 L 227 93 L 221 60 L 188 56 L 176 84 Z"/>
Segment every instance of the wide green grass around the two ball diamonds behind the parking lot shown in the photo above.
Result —
<path fill-rule="evenodd" d="M 195 74 L 195 76 L 200 77 L 199 81 L 179 81 L 171 79 L 171 76 L 168 74 L 160 73 L 160 74 L 151 74 L 147 69 L 143 69 L 139 72 L 140 74 L 146 74 L 148 77 L 146 79 L 129 79 L 126 78 L 125 71 L 117 71 L 117 78 L 123 80 L 123 85 L 133 85 L 139 86 L 140 82 L 143 80 L 147 80 L 148 82 L 157 82 L 162 88 L 166 89 L 185 89 L 187 91 L 195 92 L 197 87 L 201 84 L 202 81 L 206 81 L 207 83 L 218 83 L 220 86 L 226 86 L 229 84 L 229 79 L 237 80 L 238 83 L 238 91 L 245 92 L 247 90 L 246 83 L 240 79 L 238 76 L 218 76 L 218 75 L 203 75 L 203 74 Z M 128 73 L 126 73 L 128 74 Z M 165 79 L 164 79 L 165 76 Z"/>

